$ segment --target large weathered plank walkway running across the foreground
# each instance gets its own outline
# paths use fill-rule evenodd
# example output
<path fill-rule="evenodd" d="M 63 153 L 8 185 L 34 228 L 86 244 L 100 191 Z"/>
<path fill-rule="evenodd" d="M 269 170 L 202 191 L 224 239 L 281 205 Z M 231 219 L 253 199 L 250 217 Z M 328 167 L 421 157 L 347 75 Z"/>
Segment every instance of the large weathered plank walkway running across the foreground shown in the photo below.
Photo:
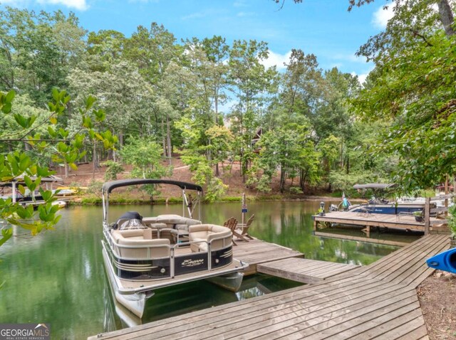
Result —
<path fill-rule="evenodd" d="M 366 267 L 90 339 L 428 339 L 415 290 L 447 249 L 426 235 Z"/>

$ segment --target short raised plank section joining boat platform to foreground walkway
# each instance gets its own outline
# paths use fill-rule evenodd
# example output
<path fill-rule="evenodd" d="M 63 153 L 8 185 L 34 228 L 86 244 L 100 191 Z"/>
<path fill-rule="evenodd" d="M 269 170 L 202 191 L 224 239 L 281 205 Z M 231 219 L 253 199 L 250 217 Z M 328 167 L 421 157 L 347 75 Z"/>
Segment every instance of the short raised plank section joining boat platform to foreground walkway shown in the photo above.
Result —
<path fill-rule="evenodd" d="M 257 272 L 303 283 L 314 283 L 358 267 L 360 266 L 295 257 L 257 265 Z"/>

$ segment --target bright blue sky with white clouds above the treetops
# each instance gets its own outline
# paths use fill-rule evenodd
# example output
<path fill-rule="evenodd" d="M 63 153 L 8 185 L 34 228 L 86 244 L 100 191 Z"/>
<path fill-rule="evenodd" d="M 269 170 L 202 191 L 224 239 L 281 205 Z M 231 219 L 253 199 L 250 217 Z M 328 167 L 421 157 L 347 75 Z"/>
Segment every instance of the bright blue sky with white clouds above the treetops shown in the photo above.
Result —
<path fill-rule="evenodd" d="M 357 58 L 358 48 L 382 31 L 390 10 L 384 0 L 348 12 L 348 0 L 304 0 L 284 6 L 273 0 L 0 0 L 0 8 L 73 11 L 88 31 L 113 29 L 130 36 L 140 25 L 157 22 L 177 39 L 222 36 L 265 41 L 266 66 L 284 69 L 292 48 L 314 53 L 323 69 L 358 75 L 361 82 L 372 63 Z"/>

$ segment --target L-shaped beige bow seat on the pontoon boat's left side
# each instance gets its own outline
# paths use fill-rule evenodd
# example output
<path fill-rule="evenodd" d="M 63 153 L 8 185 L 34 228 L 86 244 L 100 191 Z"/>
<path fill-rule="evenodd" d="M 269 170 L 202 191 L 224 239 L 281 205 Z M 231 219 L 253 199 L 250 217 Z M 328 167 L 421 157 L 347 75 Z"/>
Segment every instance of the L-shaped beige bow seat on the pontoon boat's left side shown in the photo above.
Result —
<path fill-rule="evenodd" d="M 117 250 L 118 255 L 123 258 L 170 257 L 170 240 L 162 238 L 152 240 L 151 237 L 152 230 L 149 228 L 115 230 L 113 238 L 119 246 L 114 248 Z M 134 246 L 135 248 L 123 248 L 122 245 Z"/>

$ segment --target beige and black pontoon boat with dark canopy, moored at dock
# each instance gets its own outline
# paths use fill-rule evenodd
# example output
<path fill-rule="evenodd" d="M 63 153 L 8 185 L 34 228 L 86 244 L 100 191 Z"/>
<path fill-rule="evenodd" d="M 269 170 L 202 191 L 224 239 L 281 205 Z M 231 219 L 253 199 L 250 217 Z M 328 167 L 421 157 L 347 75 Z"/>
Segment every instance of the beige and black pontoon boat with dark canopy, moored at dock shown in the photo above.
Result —
<path fill-rule="evenodd" d="M 108 220 L 109 194 L 123 186 L 170 184 L 182 190 L 182 216 L 142 217 L 130 211 Z M 186 190 L 197 191 L 195 199 Z M 207 279 L 237 291 L 246 263 L 233 258 L 232 232 L 202 224 L 192 213 L 200 209 L 201 186 L 181 181 L 128 179 L 103 185 L 103 259 L 115 299 L 138 317 L 155 289 Z M 188 215 L 188 216 L 186 216 Z"/>

